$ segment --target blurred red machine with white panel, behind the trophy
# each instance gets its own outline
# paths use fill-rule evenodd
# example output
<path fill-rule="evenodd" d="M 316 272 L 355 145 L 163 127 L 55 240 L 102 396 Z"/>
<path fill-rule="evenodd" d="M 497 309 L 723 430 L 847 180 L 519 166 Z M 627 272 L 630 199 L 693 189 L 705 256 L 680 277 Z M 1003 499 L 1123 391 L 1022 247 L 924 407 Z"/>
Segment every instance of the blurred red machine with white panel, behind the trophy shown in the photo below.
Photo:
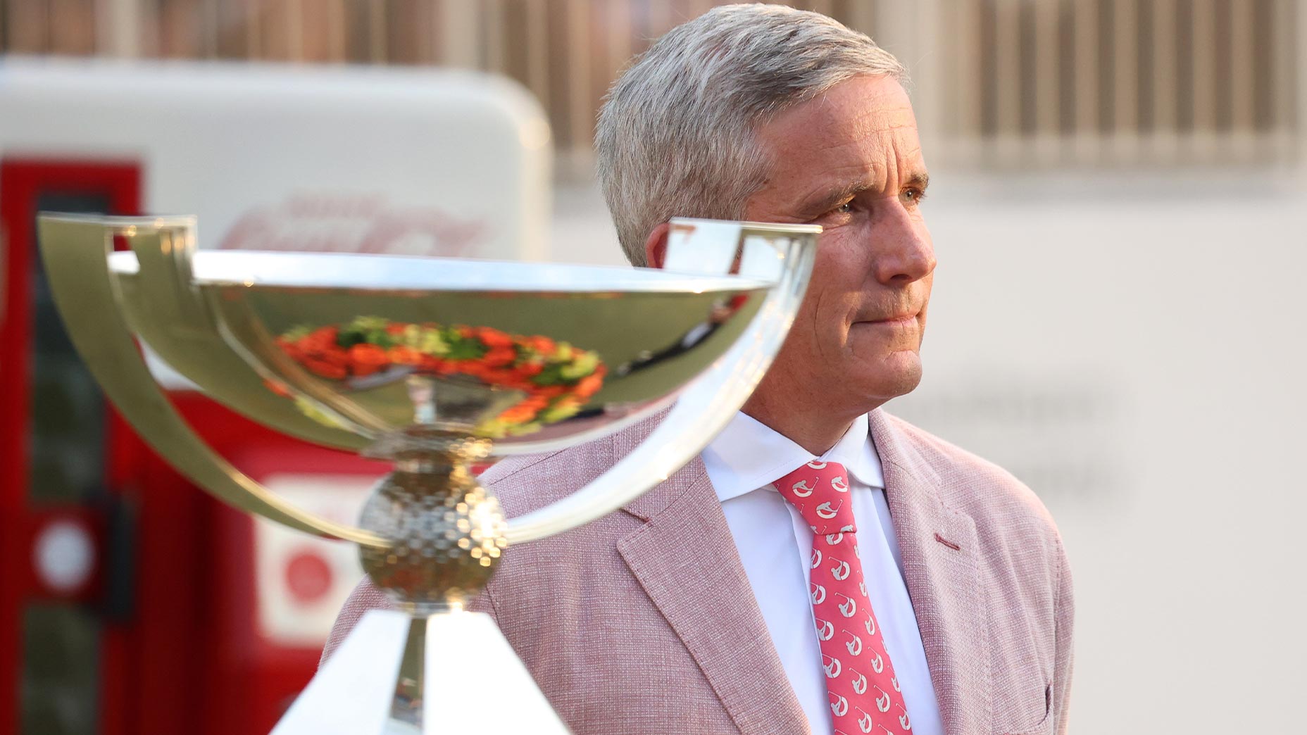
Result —
<path fill-rule="evenodd" d="M 268 732 L 359 579 L 348 544 L 251 519 L 156 458 L 64 335 L 35 213 L 136 213 L 140 180 L 132 162 L 0 160 L 0 732 Z M 386 471 L 171 395 L 218 453 L 323 515 L 354 521 Z"/>

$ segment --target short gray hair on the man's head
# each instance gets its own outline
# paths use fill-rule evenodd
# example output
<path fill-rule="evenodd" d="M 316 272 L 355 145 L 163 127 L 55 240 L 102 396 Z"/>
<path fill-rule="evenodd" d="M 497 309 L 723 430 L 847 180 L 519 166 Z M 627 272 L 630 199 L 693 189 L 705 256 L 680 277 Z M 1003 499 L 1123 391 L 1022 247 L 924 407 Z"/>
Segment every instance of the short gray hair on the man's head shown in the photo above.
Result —
<path fill-rule="evenodd" d="M 780 5 L 721 5 L 657 39 L 613 82 L 595 132 L 599 182 L 634 265 L 672 217 L 738 220 L 767 177 L 754 132 L 855 76 L 907 69 L 865 34 Z"/>

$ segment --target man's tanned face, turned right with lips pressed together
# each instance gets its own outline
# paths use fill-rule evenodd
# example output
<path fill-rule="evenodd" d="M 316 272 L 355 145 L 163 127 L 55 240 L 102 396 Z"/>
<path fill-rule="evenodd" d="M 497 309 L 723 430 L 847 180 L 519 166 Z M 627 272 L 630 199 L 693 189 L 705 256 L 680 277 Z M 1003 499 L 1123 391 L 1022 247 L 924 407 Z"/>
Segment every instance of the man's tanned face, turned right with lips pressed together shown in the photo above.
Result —
<path fill-rule="evenodd" d="M 758 143 L 774 167 L 745 218 L 825 230 L 808 294 L 757 400 L 851 419 L 907 394 L 921 379 L 935 272 L 907 93 L 886 76 L 855 77 L 782 112 L 758 129 Z"/>

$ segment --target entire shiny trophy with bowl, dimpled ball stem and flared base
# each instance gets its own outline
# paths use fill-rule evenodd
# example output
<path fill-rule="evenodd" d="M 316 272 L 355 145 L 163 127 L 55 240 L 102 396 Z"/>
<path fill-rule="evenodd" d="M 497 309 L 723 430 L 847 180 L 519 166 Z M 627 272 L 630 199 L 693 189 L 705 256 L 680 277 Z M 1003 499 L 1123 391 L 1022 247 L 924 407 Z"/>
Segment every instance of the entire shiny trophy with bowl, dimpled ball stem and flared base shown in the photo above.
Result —
<path fill-rule="evenodd" d="M 510 544 L 630 502 L 725 425 L 788 331 L 819 231 L 673 220 L 665 268 L 647 269 L 200 251 L 193 217 L 39 218 L 69 336 L 141 437 L 242 510 L 357 543 L 403 611 L 365 617 L 278 732 L 565 731 L 493 621 L 464 607 Z M 358 527 L 303 513 L 217 456 L 136 340 L 256 422 L 392 462 Z M 506 519 L 471 472 L 488 455 L 565 449 L 670 404 L 634 453 L 523 517 Z M 495 697 L 533 704 L 494 708 L 455 674 L 467 666 L 502 683 Z"/>

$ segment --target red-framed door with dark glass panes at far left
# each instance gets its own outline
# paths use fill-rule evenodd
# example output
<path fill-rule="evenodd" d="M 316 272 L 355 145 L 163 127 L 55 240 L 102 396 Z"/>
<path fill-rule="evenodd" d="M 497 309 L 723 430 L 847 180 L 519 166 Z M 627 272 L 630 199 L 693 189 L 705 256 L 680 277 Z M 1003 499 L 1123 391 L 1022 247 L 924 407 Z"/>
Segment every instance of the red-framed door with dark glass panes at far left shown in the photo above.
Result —
<path fill-rule="evenodd" d="M 133 162 L 0 158 L 0 732 L 88 732 L 99 662 L 132 612 L 124 434 L 64 335 L 35 247 L 39 209 L 135 213 Z"/>

